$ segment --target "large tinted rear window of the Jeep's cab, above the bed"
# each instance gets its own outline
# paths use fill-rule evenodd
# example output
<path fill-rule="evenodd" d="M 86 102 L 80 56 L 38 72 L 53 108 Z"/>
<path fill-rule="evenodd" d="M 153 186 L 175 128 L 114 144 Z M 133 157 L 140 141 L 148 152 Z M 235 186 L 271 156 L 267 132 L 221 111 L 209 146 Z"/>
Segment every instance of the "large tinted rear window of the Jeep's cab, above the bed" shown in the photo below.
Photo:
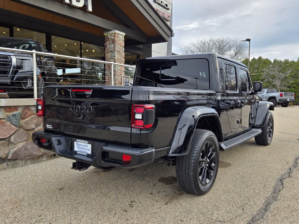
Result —
<path fill-rule="evenodd" d="M 140 62 L 137 65 L 135 86 L 210 89 L 207 59 L 180 59 Z"/>

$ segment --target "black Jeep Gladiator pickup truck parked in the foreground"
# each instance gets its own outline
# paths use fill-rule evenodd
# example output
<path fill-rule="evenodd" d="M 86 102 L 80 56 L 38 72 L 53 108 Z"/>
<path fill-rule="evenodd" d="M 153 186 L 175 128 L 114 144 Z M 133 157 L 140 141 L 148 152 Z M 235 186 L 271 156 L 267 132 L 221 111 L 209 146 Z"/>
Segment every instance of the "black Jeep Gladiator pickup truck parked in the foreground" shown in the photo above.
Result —
<path fill-rule="evenodd" d="M 216 54 L 139 59 L 133 86 L 47 86 L 37 99 L 44 131 L 33 142 L 74 159 L 73 169 L 132 168 L 162 157 L 192 194 L 212 187 L 219 150 L 255 137 L 269 145 L 271 102 L 247 67 Z"/>

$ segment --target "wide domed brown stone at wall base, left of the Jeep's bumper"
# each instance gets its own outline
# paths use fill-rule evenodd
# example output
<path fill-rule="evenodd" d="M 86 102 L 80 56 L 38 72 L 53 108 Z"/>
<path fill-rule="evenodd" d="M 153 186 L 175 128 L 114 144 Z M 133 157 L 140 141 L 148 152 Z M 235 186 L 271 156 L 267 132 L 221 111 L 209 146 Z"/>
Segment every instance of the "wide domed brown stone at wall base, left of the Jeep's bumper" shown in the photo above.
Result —
<path fill-rule="evenodd" d="M 22 143 L 10 151 L 7 159 L 29 159 L 36 158 L 42 155 L 39 147 L 33 142 Z"/>

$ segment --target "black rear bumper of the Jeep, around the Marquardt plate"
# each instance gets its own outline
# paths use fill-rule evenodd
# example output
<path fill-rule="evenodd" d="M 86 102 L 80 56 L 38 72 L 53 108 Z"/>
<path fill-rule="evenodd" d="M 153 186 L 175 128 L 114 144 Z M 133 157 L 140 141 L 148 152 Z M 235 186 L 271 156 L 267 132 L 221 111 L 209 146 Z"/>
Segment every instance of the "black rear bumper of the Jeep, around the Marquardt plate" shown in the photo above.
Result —
<path fill-rule="evenodd" d="M 42 143 L 40 138 L 47 140 Z M 37 131 L 32 134 L 33 142 L 48 151 L 53 151 L 61 157 L 74 159 L 79 162 L 88 163 L 96 166 L 115 166 L 120 168 L 134 168 L 154 161 L 155 158 L 167 155 L 168 148 L 155 150 L 149 148 L 131 148 L 124 145 L 116 145 L 108 142 L 88 140 L 92 142 L 92 156 L 77 154 L 74 151 L 73 139 L 77 137 L 62 136 L 45 131 Z M 81 140 L 86 140 L 80 138 Z M 130 155 L 130 162 L 122 161 L 122 154 Z"/>

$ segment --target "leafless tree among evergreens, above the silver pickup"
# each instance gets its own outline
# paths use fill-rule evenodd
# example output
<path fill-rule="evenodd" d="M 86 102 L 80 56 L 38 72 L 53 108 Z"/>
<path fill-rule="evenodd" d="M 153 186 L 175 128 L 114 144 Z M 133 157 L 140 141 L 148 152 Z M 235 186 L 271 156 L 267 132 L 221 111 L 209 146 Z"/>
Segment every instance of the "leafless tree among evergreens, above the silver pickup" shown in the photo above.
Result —
<path fill-rule="evenodd" d="M 283 66 L 283 61 L 274 59 L 273 63 L 266 67 L 262 76 L 264 82 L 268 83 L 268 86 L 280 90 L 286 89 L 289 82 L 288 76 L 291 70 Z"/>

